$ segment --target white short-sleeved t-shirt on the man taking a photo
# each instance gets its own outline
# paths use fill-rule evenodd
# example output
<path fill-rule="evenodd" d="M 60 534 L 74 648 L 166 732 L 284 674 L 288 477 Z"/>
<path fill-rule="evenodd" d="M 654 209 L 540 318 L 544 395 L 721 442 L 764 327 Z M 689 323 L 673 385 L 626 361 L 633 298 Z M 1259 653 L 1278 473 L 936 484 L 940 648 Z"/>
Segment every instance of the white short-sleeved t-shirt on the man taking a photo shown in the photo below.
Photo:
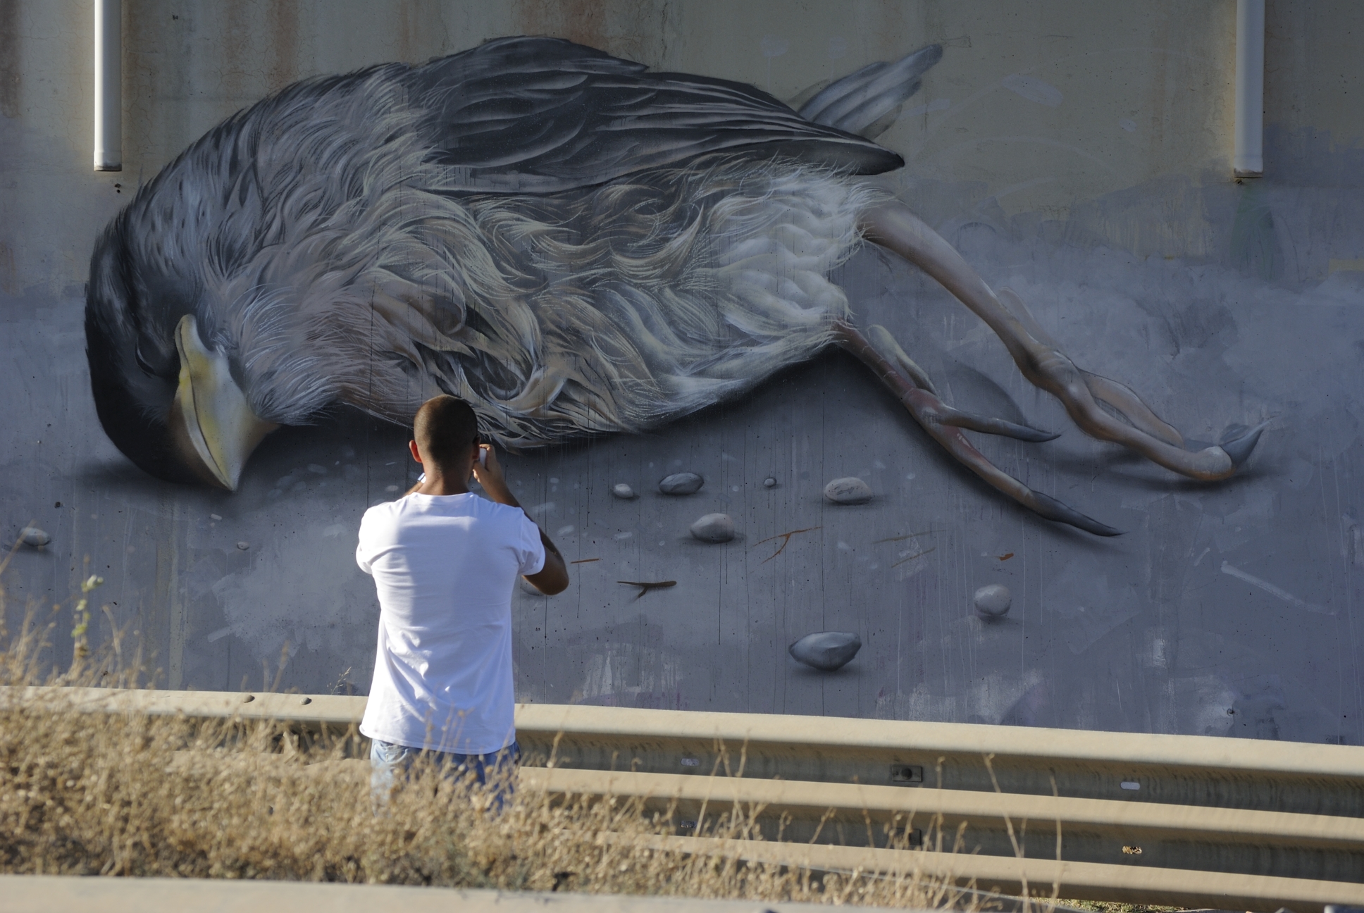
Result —
<path fill-rule="evenodd" d="M 512 587 L 544 568 L 525 512 L 472 493 L 409 494 L 366 510 L 355 560 L 379 591 L 360 731 L 461 755 L 512 744 Z"/>

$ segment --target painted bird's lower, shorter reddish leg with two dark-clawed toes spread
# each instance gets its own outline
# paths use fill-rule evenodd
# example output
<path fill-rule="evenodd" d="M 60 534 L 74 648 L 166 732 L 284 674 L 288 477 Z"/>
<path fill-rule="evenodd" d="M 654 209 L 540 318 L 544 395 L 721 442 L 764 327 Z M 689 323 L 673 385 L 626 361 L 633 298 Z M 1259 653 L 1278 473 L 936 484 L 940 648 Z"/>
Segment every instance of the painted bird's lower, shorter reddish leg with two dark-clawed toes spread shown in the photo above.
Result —
<path fill-rule="evenodd" d="M 837 321 L 833 325 L 833 340 L 843 349 L 872 368 L 872 373 L 876 374 L 881 383 L 889 388 L 904 408 L 910 411 L 914 420 L 918 422 L 934 441 L 947 448 L 947 452 L 962 463 L 962 465 L 985 479 L 985 482 L 992 487 L 1003 491 L 1024 508 L 1028 508 L 1048 520 L 1068 523 L 1072 527 L 1079 527 L 1080 530 L 1099 536 L 1118 535 L 1118 531 L 1113 527 L 1103 525 L 1098 520 L 1084 516 L 1075 508 L 1071 508 L 1053 497 L 1045 495 L 1041 491 L 1034 491 L 996 467 L 985 459 L 983 453 L 977 450 L 971 442 L 966 439 L 966 435 L 962 434 L 962 429 L 986 431 L 990 434 L 1005 434 L 1023 441 L 1050 441 L 1056 437 L 1054 434 L 1046 434 L 1045 431 L 1013 424 L 1012 422 L 986 419 L 953 409 L 943 403 L 936 393 L 925 389 L 923 385 L 917 383 L 910 379 L 910 377 L 906 377 L 908 371 L 902 374 L 900 370 L 896 370 L 896 366 L 891 363 L 889 358 L 893 358 L 896 362 L 902 362 L 902 364 L 903 362 L 908 362 L 910 364 L 914 363 L 910 362 L 908 356 L 900 351 L 900 347 L 895 344 L 895 340 L 891 338 L 891 334 L 885 329 L 873 326 L 869 333 L 877 338 L 877 345 L 873 345 L 872 341 L 858 332 L 858 329 L 851 323 Z M 887 355 L 889 355 L 889 358 L 887 358 Z M 915 366 L 915 370 L 918 370 L 918 366 Z M 918 373 L 922 374 L 922 371 Z"/>

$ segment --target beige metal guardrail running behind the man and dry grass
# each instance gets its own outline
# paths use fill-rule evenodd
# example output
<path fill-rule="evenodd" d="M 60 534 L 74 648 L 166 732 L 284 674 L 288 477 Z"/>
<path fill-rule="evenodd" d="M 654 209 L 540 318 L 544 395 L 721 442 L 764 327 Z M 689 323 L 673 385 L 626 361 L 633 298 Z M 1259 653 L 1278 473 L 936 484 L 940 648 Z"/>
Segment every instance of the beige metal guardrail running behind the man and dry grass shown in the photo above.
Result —
<path fill-rule="evenodd" d="M 352 731 L 364 711 L 364 697 L 316 695 L 71 688 L 61 697 L 87 711 L 289 721 L 316 737 Z M 1364 905 L 1364 748 L 552 704 L 521 704 L 516 722 L 531 759 L 525 786 L 675 802 L 679 830 L 656 838 L 660 847 L 917 869 L 1007 893 L 1058 883 L 1078 899 L 1293 913 Z M 551 755 L 552 767 L 536 766 Z M 690 835 L 702 807 L 713 816 L 732 802 L 761 807 L 765 839 Z M 968 852 L 888 847 L 888 830 L 903 827 L 913 845 L 930 823 L 948 834 L 944 849 L 964 823 Z"/>

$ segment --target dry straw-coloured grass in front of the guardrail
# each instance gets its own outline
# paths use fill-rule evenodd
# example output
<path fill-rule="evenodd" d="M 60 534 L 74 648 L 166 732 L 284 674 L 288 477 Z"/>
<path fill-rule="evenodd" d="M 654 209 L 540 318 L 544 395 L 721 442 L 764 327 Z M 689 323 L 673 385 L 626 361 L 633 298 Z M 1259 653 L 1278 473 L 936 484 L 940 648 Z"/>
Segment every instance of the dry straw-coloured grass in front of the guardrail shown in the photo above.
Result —
<path fill-rule="evenodd" d="M 0 564 L 3 570 L 3 564 Z M 94 579 L 70 603 L 74 659 L 38 676 L 55 626 L 3 631 L 0 685 L 136 686 L 119 640 L 91 654 Z M 63 613 L 64 614 L 64 613 Z M 57 617 L 57 615 L 53 615 Z M 53 692 L 46 692 L 52 695 Z M 8 695 L 8 697 L 5 697 Z M 280 723 L 78 712 L 0 691 L 0 872 L 256 878 L 573 890 L 887 906 L 970 906 L 917 873 L 812 873 L 645 846 L 675 832 L 638 800 L 488 794 L 417 770 L 375 813 L 356 736 L 310 744 Z M 758 809 L 702 822 L 756 838 Z"/>

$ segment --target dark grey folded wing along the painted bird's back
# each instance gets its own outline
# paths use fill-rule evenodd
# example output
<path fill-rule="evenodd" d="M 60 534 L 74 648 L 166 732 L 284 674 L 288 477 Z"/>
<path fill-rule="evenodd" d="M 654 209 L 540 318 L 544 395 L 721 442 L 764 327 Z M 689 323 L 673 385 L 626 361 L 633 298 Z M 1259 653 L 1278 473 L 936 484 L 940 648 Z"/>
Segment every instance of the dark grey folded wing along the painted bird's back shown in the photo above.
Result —
<path fill-rule="evenodd" d="M 737 82 L 557 38 L 501 38 L 411 71 L 446 190 L 551 194 L 709 153 L 784 156 L 853 173 L 904 160 Z"/>

